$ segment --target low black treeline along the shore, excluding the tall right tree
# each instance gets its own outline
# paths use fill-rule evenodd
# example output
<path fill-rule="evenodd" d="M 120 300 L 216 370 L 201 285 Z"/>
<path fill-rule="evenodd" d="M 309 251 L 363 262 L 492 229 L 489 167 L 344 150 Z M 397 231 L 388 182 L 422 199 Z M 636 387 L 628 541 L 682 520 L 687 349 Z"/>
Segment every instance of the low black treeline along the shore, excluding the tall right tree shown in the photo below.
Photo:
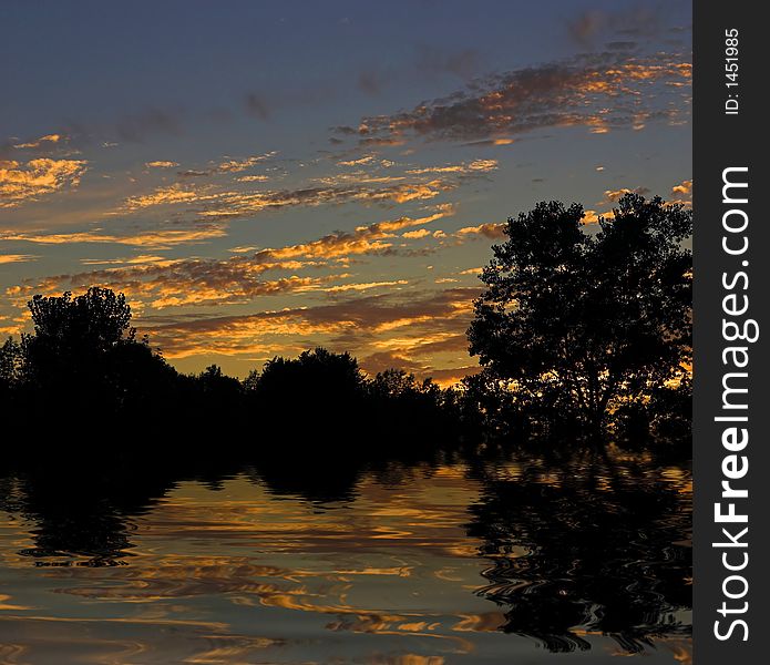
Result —
<path fill-rule="evenodd" d="M 130 443 L 160 454 L 214 441 L 214 453 L 259 440 L 309 458 L 424 458 L 543 436 L 574 444 L 583 432 L 579 411 L 545 396 L 523 400 L 489 372 L 442 389 L 399 369 L 368 377 L 350 354 L 316 348 L 276 357 L 245 380 L 215 365 L 185 375 L 137 339 L 122 294 L 92 287 L 74 298 L 35 296 L 29 309 L 34 331 L 0 347 L 0 408 L 7 432 L 45 450 Z M 686 388 L 629 401 L 608 419 L 609 431 L 667 443 L 685 437 Z"/>

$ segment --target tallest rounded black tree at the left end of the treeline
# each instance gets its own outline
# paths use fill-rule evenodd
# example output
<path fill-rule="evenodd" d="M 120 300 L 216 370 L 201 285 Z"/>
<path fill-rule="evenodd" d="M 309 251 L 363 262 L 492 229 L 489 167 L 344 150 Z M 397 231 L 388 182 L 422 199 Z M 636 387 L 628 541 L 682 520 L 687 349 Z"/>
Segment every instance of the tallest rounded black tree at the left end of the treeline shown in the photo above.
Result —
<path fill-rule="evenodd" d="M 74 298 L 37 295 L 28 306 L 34 334 L 22 336 L 21 350 L 32 416 L 44 410 L 54 422 L 88 413 L 83 430 L 117 413 L 156 420 L 176 372 L 136 340 L 123 294 L 91 287 Z"/>

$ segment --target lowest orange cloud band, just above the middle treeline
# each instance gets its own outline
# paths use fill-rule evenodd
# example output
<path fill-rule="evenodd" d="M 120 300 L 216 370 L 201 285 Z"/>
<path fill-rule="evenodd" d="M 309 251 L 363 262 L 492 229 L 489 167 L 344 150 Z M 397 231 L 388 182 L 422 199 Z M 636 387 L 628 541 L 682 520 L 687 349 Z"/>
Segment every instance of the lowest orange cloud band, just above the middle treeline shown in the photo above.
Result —
<path fill-rule="evenodd" d="M 363 359 L 365 369 L 371 371 L 384 367 L 366 358 L 379 354 L 382 360 L 382 354 L 390 352 L 412 362 L 398 364 L 401 367 L 424 375 L 432 359 L 441 355 L 464 358 L 468 364 L 464 332 L 473 313 L 472 299 L 478 295 L 478 288 L 386 293 L 307 308 L 192 320 L 170 317 L 171 321 L 161 325 L 152 325 L 155 317 L 147 317 L 137 324 L 168 358 L 207 354 L 268 358 L 322 344 L 355 350 Z"/>

